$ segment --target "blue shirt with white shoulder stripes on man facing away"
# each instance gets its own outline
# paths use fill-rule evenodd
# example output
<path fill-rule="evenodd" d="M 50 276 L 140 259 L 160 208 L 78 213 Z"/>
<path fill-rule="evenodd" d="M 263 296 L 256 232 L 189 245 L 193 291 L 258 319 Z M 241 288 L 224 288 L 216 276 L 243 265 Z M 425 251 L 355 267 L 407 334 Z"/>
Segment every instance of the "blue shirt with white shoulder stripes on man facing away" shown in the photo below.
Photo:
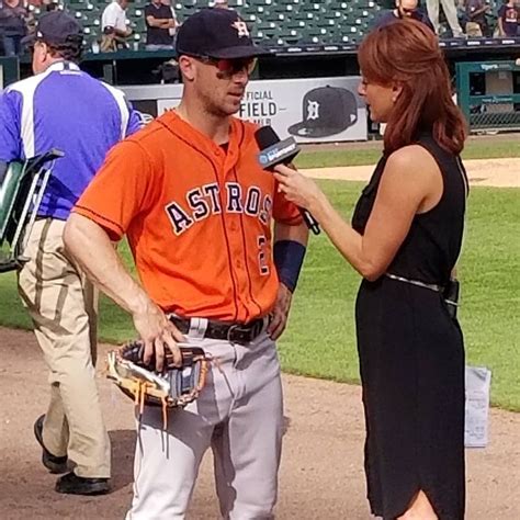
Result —
<path fill-rule="evenodd" d="M 57 61 L 0 97 L 0 160 L 29 159 L 57 148 L 41 216 L 67 219 L 105 154 L 140 126 L 123 92 Z"/>

